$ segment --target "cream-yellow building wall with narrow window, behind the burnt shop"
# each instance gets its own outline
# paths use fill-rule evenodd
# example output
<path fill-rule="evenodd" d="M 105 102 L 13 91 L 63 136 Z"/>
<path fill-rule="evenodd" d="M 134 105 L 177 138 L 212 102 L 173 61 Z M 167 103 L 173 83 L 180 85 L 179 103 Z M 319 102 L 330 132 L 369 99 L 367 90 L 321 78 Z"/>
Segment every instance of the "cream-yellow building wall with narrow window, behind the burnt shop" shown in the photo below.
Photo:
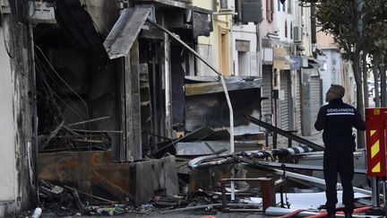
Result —
<path fill-rule="evenodd" d="M 219 11 L 219 0 L 216 1 L 217 5 L 213 5 L 214 1 L 212 0 L 193 0 L 193 5 L 211 10 L 217 8 L 216 11 Z M 216 13 L 216 12 L 214 12 Z M 230 15 L 216 15 L 212 14 L 212 27 L 213 31 L 210 34 L 210 37 L 199 37 L 198 43 L 202 45 L 211 45 L 215 55 L 215 63 L 219 69 L 220 73 L 229 75 L 230 69 L 230 42 L 229 42 L 229 19 Z"/>

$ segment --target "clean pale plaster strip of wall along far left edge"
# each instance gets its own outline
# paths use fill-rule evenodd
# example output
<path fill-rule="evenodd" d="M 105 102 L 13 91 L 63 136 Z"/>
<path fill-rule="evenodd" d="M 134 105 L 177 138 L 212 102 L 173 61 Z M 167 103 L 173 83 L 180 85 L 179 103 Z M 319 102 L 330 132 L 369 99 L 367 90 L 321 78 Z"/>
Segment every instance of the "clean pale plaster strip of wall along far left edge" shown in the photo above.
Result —
<path fill-rule="evenodd" d="M 0 201 L 16 198 L 15 125 L 13 120 L 13 77 L 10 57 L 4 47 L 4 29 L 0 26 Z"/>

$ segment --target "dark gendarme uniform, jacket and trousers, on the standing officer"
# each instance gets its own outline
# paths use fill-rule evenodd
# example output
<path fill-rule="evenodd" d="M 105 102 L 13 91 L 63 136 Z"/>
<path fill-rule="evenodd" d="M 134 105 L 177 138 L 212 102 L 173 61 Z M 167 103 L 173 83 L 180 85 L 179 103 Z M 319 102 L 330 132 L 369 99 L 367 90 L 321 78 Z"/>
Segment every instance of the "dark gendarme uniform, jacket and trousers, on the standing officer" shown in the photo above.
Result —
<path fill-rule="evenodd" d="M 336 184 L 339 173 L 343 187 L 343 204 L 346 212 L 352 214 L 355 143 L 352 127 L 366 130 L 366 123 L 354 107 L 344 103 L 341 99 L 334 99 L 320 109 L 314 127 L 318 131 L 323 130 L 325 144 L 323 174 L 326 184 L 327 210 L 330 214 L 335 214 L 338 202 Z"/>

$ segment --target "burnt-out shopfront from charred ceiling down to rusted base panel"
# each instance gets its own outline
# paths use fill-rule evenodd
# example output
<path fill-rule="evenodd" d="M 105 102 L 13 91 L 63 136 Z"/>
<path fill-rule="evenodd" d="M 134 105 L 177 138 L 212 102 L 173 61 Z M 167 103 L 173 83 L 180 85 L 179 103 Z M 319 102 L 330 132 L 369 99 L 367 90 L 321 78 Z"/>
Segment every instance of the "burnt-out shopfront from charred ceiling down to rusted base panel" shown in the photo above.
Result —
<path fill-rule="evenodd" d="M 30 16 L 40 187 L 133 205 L 176 195 L 175 157 L 153 154 L 185 127 L 194 60 L 164 30 L 193 46 L 210 33 L 211 12 L 186 1 L 66 0 L 30 2 Z"/>

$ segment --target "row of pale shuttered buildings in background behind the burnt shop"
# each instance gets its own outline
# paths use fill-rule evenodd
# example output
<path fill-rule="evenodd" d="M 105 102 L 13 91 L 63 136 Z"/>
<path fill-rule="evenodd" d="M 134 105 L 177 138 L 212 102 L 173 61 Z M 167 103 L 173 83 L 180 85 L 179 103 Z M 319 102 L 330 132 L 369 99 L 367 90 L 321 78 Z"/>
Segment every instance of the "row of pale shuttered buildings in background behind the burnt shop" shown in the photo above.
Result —
<path fill-rule="evenodd" d="M 211 37 L 198 40 L 202 56 L 219 68 L 224 68 L 221 60 L 229 60 L 231 76 L 262 78 L 261 113 L 257 116 L 297 135 L 314 134 L 311 123 L 322 104 L 322 83 L 320 65 L 313 56 L 316 39 L 311 32 L 315 30 L 311 8 L 301 7 L 293 0 L 193 3 L 214 10 L 214 30 L 222 23 L 223 27 L 228 24 L 229 53 L 219 46 L 224 41 L 222 31 L 213 31 Z M 262 13 L 250 17 L 246 8 L 253 8 L 252 5 L 260 8 L 255 12 Z M 214 55 L 216 51 L 221 54 Z M 202 65 L 198 65 L 196 74 L 211 75 Z"/>

